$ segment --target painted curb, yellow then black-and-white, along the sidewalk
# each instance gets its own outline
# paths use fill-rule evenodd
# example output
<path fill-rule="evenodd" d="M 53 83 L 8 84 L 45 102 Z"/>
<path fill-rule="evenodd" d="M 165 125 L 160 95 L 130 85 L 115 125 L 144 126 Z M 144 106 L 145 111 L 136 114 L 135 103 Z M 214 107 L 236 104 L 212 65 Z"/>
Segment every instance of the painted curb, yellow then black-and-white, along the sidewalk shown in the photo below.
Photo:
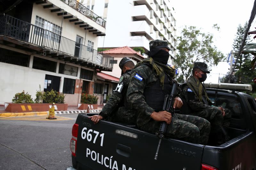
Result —
<path fill-rule="evenodd" d="M 101 110 L 90 110 L 90 113 L 98 113 Z M 86 113 L 87 110 L 74 110 L 74 111 L 55 111 L 55 115 L 61 114 L 76 114 L 76 113 Z M 48 115 L 48 112 L 25 112 L 25 113 L 0 113 L 0 118 L 4 117 L 17 117 L 17 116 L 35 116 L 35 115 Z"/>

